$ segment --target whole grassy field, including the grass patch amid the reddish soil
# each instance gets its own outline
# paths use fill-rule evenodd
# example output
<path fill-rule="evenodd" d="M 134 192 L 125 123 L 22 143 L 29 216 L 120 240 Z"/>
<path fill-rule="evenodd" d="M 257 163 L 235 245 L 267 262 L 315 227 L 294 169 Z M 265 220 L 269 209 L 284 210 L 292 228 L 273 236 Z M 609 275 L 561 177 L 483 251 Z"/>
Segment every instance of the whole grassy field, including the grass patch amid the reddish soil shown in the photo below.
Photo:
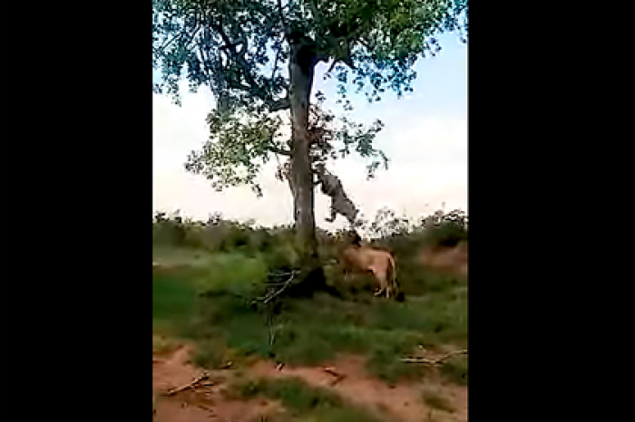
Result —
<path fill-rule="evenodd" d="M 424 365 L 400 358 L 421 346 L 467 348 L 468 287 L 465 277 L 425 271 L 416 263 L 416 248 L 409 240 L 392 247 L 405 302 L 375 298 L 366 285 L 366 290 L 351 291 L 345 299 L 326 293 L 312 299 L 286 298 L 277 309 L 252 303 L 263 293 L 275 242 L 251 249 L 226 242 L 222 250 L 155 245 L 153 258 L 161 266 L 153 269 L 153 348 L 169 350 L 186 340 L 195 345 L 194 363 L 209 369 L 228 360 L 256 358 L 311 366 L 338 353 L 352 353 L 365 357 L 366 369 L 388 384 L 425 378 Z M 341 285 L 337 273 L 327 271 L 327 276 L 329 283 Z M 467 357 L 446 360 L 441 373 L 455 384 L 467 385 Z M 377 420 L 299 379 L 246 379 L 234 389 L 245 398 L 281 400 L 292 409 L 281 420 Z M 432 408 L 447 408 L 434 390 L 424 390 L 421 400 Z"/>

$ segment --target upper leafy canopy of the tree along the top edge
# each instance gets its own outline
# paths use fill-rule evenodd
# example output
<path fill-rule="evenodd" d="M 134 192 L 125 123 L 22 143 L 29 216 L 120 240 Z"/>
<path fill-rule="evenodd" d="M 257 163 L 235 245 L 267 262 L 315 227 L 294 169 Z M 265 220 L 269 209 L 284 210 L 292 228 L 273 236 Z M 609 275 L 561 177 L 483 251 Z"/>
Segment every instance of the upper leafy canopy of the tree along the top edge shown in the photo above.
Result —
<path fill-rule="evenodd" d="M 352 82 L 357 90 L 366 88 L 369 101 L 380 99 L 386 88 L 397 95 L 411 91 L 417 58 L 441 50 L 435 35 L 456 31 L 464 42 L 467 36 L 466 0 L 152 3 L 153 63 L 163 77 L 157 88 L 178 102 L 185 68 L 190 87 L 209 85 L 220 108 L 249 108 L 258 99 L 269 111 L 288 109 L 283 71 L 291 34 L 310 40 L 312 60 L 333 61 L 340 95 L 346 97 Z"/>

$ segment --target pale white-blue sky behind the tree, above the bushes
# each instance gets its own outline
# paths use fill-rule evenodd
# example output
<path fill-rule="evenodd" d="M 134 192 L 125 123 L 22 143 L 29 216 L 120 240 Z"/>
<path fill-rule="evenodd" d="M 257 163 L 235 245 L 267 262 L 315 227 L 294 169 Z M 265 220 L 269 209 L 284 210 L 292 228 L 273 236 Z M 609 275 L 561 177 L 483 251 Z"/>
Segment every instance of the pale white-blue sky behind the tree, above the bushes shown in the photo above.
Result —
<path fill-rule="evenodd" d="M 380 167 L 375 179 L 366 180 L 364 161 L 351 155 L 327 169 L 340 177 L 348 197 L 366 218 L 374 218 L 383 206 L 411 218 L 429 214 L 443 202 L 446 210 L 467 211 L 467 46 L 454 34 L 440 37 L 440 43 L 441 53 L 416 63 L 415 91 L 409 96 L 397 100 L 386 91 L 382 101 L 368 104 L 363 94 L 354 95 L 353 87 L 349 90 L 355 107 L 351 118 L 365 123 L 377 118 L 385 123 L 375 147 L 386 152 L 389 168 Z M 323 81 L 326 70 L 327 65 L 318 65 L 312 93 L 325 92 L 326 106 L 331 108 L 335 107 L 335 83 Z M 291 194 L 288 185 L 274 177 L 275 159 L 259 175 L 261 198 L 249 187 L 216 192 L 204 177 L 185 171 L 187 155 L 209 137 L 205 117 L 213 97 L 207 87 L 197 93 L 183 92 L 181 107 L 171 104 L 167 96 L 152 97 L 153 209 L 181 209 L 182 216 L 204 220 L 220 211 L 225 218 L 254 219 L 260 225 L 292 223 Z M 327 230 L 344 227 L 342 216 L 333 224 L 324 220 L 329 202 L 316 189 L 316 224 Z"/>

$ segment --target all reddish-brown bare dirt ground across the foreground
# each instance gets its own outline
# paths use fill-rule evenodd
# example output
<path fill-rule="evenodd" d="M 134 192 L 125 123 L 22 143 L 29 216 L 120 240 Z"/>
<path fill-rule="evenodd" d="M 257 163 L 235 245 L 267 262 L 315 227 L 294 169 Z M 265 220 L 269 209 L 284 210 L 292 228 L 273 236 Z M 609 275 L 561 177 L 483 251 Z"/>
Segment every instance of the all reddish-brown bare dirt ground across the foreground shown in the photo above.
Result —
<path fill-rule="evenodd" d="M 198 383 L 196 388 L 166 396 L 165 392 L 171 388 L 186 385 L 202 373 L 202 369 L 190 364 L 191 351 L 190 346 L 181 346 L 171 353 L 152 356 L 155 422 L 253 422 L 285 412 L 277 401 L 227 397 L 224 391 L 233 377 L 232 368 L 208 371 L 209 379 Z M 421 398 L 421 385 L 388 386 L 367 374 L 364 360 L 357 356 L 343 356 L 319 367 L 284 366 L 281 369 L 273 362 L 259 360 L 247 371 L 256 377 L 298 377 L 311 386 L 329 388 L 353 404 L 373 409 L 386 420 L 467 421 L 466 387 L 449 384 L 441 377 L 426 377 L 425 386 L 443 394 L 454 411 L 450 413 L 428 408 Z"/>

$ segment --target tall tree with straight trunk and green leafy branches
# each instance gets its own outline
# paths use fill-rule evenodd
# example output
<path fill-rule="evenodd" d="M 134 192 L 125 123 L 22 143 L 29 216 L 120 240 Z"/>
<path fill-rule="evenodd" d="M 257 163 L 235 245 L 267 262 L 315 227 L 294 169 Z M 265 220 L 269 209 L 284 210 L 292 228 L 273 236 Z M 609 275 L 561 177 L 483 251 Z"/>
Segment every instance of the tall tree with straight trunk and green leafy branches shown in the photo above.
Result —
<path fill-rule="evenodd" d="M 466 0 L 153 0 L 153 8 L 153 64 L 162 71 L 153 89 L 180 103 L 184 72 L 191 90 L 206 84 L 216 99 L 208 117 L 216 143 L 192 154 L 186 168 L 217 188 L 248 183 L 258 193 L 259 161 L 287 156 L 308 268 L 318 267 L 308 124 L 318 62 L 331 63 L 327 76 L 350 109 L 350 82 L 368 101 L 386 89 L 401 96 L 412 91 L 417 58 L 441 49 L 435 34 L 456 30 L 465 41 L 467 31 Z M 290 114 L 288 142 L 278 136 L 282 111 Z M 356 142 L 374 151 L 373 138 L 372 130 L 344 129 L 344 153 Z"/>

